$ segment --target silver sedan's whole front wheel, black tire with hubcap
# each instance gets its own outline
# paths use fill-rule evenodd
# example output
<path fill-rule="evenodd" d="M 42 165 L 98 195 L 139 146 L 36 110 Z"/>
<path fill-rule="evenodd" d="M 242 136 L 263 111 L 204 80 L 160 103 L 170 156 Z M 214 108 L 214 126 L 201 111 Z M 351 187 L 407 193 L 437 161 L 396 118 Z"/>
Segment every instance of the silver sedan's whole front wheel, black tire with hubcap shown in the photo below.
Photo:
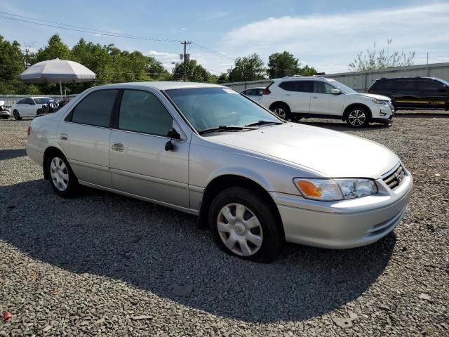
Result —
<path fill-rule="evenodd" d="M 216 244 L 232 256 L 269 263 L 283 249 L 285 237 L 272 205 L 247 187 L 217 194 L 208 222 Z"/>

